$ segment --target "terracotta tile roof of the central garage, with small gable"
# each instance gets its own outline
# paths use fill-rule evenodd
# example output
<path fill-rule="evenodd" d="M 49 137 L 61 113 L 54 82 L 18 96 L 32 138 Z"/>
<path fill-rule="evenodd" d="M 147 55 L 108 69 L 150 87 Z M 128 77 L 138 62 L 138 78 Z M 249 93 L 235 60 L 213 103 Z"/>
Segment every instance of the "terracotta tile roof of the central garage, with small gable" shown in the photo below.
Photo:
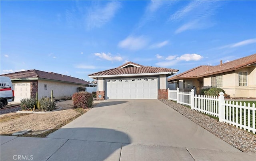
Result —
<path fill-rule="evenodd" d="M 136 66 L 126 66 L 128 64 L 134 64 Z M 140 64 L 136 64 L 133 62 L 127 62 L 118 68 L 113 68 L 110 70 L 104 70 L 102 72 L 96 72 L 93 74 L 89 74 L 88 76 L 110 76 L 110 75 L 121 75 L 121 74 L 146 74 L 146 73 L 162 73 L 162 72 L 178 72 L 178 70 L 170 69 L 170 68 L 160 68 L 160 67 L 152 67 L 152 66 L 142 66 Z"/>

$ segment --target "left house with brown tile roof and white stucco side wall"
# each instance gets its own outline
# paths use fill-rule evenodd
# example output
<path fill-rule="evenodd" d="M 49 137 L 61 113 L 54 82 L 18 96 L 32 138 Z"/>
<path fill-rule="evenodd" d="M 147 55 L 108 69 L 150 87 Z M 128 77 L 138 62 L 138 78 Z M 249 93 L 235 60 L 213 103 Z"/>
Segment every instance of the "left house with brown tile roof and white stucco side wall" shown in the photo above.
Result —
<path fill-rule="evenodd" d="M 78 87 L 88 87 L 87 81 L 71 76 L 65 76 L 53 72 L 40 70 L 26 70 L 1 76 L 10 77 L 14 87 L 14 101 L 22 98 L 51 97 L 51 91 L 55 99 L 72 97 L 78 92 Z"/>

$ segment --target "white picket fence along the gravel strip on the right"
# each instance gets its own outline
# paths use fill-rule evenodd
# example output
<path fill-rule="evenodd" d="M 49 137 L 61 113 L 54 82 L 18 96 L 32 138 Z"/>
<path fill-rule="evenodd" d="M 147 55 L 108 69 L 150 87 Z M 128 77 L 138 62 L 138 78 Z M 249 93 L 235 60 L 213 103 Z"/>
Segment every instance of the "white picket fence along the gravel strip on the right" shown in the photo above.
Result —
<path fill-rule="evenodd" d="M 256 133 L 255 103 L 252 105 L 248 103 L 246 106 L 246 103 L 242 105 L 241 102 L 238 104 L 237 101 L 225 101 L 223 92 L 220 92 L 220 96 L 217 97 L 195 95 L 194 89 L 191 89 L 191 91 L 179 91 L 179 88 L 176 90 L 168 89 L 168 99 L 190 106 L 193 110 L 218 117 L 220 122 L 229 123 L 237 128 Z"/>

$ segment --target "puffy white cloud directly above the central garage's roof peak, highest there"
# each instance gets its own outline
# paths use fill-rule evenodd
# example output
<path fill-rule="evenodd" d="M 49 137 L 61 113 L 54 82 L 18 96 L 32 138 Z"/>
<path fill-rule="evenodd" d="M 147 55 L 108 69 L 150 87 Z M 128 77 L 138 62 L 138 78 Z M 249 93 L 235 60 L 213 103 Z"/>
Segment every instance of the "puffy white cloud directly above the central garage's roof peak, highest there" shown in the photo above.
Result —
<path fill-rule="evenodd" d="M 143 36 L 133 37 L 128 36 L 126 39 L 120 41 L 118 46 L 129 50 L 140 50 L 148 44 L 148 39 Z"/>

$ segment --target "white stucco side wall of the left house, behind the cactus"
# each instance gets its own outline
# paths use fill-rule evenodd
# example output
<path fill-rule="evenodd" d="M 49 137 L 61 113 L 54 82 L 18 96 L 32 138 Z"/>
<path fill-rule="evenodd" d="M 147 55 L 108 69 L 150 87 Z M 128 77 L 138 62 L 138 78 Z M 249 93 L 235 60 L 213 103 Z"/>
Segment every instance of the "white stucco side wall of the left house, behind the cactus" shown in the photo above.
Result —
<path fill-rule="evenodd" d="M 45 84 L 47 89 L 44 89 Z M 77 87 L 80 86 L 82 87 L 83 85 L 38 80 L 38 99 L 42 98 L 42 96 L 51 97 L 51 90 L 53 90 L 55 99 L 72 97 L 73 93 L 78 92 Z"/>

